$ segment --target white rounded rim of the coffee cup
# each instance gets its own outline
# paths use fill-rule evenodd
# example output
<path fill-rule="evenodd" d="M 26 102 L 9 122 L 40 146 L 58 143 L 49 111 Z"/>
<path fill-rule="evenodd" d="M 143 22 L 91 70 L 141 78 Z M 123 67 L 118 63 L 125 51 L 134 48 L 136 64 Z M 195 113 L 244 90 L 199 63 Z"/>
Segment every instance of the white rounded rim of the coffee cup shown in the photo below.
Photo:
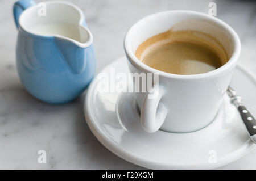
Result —
<path fill-rule="evenodd" d="M 132 52 L 132 50 L 129 48 L 128 45 L 128 41 L 130 39 L 130 34 L 131 34 L 131 30 L 133 30 L 133 28 L 137 27 L 138 24 L 142 23 L 145 20 L 148 20 L 150 18 L 153 18 L 155 16 L 160 16 L 163 14 L 170 14 L 170 13 L 188 13 L 188 14 L 197 14 L 203 18 L 207 18 L 209 19 L 211 22 L 217 23 L 219 24 L 222 28 L 224 28 L 226 30 L 226 32 L 230 33 L 233 41 L 234 41 L 234 49 L 233 49 L 233 53 L 232 56 L 229 58 L 229 60 L 222 65 L 220 68 L 217 68 L 215 70 L 212 71 L 208 71 L 206 73 L 200 73 L 200 74 L 188 74 L 188 75 L 181 75 L 181 74 L 172 74 L 172 73 L 167 73 L 164 71 L 160 71 L 154 68 L 151 68 L 150 66 L 143 64 L 136 56 L 135 54 Z M 126 35 L 125 35 L 125 39 L 123 41 L 123 46 L 125 49 L 125 53 L 127 56 L 127 59 L 129 60 L 129 62 L 135 66 L 135 68 L 141 69 L 142 71 L 145 72 L 152 72 L 152 73 L 158 73 L 160 76 L 162 77 L 167 77 L 167 78 L 176 78 L 176 79 L 200 79 L 200 78 L 205 78 L 205 77 L 211 77 L 217 74 L 221 74 L 224 71 L 233 68 L 234 66 L 236 66 L 236 62 L 238 60 L 238 57 L 240 56 L 240 52 L 241 52 L 241 42 L 240 39 L 237 35 L 237 33 L 233 30 L 232 27 L 230 27 L 228 24 L 226 24 L 225 22 L 223 22 L 222 20 L 214 17 L 214 16 L 210 16 L 207 14 L 204 14 L 202 12 L 197 12 L 197 11 L 188 11 L 188 10 L 171 10 L 171 11 L 162 11 L 162 12 L 158 12 L 155 14 L 151 14 L 148 15 L 140 20 L 138 20 L 138 22 L 134 23 L 133 26 L 131 26 L 129 28 L 129 30 L 127 31 Z"/>

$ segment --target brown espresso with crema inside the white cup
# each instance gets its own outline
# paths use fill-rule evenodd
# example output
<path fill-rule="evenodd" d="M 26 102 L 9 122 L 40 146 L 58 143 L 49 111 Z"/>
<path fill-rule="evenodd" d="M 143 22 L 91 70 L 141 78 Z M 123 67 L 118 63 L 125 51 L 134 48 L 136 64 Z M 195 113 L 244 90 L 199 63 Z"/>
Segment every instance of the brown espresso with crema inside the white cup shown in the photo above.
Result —
<path fill-rule="evenodd" d="M 135 56 L 151 68 L 172 74 L 200 74 L 228 61 L 214 37 L 198 31 L 167 31 L 144 41 Z"/>

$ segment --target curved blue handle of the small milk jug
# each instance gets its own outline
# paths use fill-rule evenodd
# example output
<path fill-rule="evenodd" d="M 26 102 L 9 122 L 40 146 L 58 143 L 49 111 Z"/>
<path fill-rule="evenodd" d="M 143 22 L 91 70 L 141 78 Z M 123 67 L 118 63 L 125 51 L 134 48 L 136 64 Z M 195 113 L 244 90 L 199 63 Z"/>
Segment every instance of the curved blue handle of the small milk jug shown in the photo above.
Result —
<path fill-rule="evenodd" d="M 36 3 L 32 0 L 19 0 L 13 5 L 13 17 L 16 27 L 19 28 L 19 16 L 24 10 L 30 6 L 34 6 Z"/>

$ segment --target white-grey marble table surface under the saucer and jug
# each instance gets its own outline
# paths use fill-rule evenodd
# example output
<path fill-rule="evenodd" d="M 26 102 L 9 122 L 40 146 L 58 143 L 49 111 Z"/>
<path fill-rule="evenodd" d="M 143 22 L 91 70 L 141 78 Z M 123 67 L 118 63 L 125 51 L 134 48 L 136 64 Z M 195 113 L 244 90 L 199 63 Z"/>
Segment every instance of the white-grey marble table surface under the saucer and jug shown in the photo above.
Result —
<path fill-rule="evenodd" d="M 94 35 L 98 73 L 123 56 L 123 37 L 143 16 L 176 9 L 208 13 L 212 1 L 71 2 L 85 12 Z M 215 2 L 217 17 L 240 36 L 240 64 L 256 73 L 256 3 Z M 52 106 L 36 100 L 24 89 L 15 64 L 13 3 L 0 1 L 0 169 L 143 169 L 111 153 L 90 132 L 83 113 L 86 91 L 71 103 Z M 38 163 L 39 150 L 46 150 L 46 164 Z M 256 169 L 256 150 L 221 169 Z"/>

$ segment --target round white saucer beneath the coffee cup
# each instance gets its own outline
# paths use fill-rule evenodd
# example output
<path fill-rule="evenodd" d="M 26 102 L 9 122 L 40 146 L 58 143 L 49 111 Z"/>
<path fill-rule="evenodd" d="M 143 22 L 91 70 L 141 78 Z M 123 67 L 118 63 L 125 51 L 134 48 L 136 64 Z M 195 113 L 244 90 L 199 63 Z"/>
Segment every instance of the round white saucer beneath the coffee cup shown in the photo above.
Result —
<path fill-rule="evenodd" d="M 128 72 L 125 57 L 102 72 Z M 224 98 L 216 119 L 192 133 L 144 132 L 134 93 L 104 93 L 91 83 L 84 103 L 86 121 L 94 136 L 119 157 L 149 169 L 214 169 L 241 158 L 254 148 L 236 108 Z M 237 66 L 231 86 L 256 115 L 255 78 Z"/>

